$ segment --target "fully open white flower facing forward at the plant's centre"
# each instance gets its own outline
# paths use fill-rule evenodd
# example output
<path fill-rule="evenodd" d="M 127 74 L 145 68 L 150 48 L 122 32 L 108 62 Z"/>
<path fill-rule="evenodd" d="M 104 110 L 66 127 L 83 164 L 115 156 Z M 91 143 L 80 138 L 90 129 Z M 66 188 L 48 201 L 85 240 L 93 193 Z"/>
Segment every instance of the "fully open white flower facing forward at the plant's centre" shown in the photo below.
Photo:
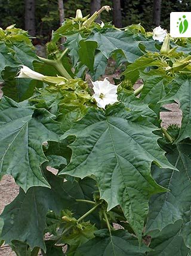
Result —
<path fill-rule="evenodd" d="M 96 100 L 98 107 L 105 109 L 106 105 L 114 104 L 118 101 L 118 86 L 112 85 L 106 78 L 103 81 L 92 83 L 94 90 L 93 98 Z"/>

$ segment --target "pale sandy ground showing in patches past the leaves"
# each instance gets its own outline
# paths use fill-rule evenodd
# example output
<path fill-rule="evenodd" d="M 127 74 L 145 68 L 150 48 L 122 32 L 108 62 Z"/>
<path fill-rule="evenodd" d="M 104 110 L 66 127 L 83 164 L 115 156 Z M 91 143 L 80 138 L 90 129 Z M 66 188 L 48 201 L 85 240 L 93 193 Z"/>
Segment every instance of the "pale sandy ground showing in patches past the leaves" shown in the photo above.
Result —
<path fill-rule="evenodd" d="M 0 85 L 1 86 L 1 85 Z M 1 89 L 1 87 L 0 87 Z M 0 98 L 1 98 L 1 90 L 0 90 Z M 178 107 L 178 104 L 168 104 L 167 109 L 171 110 L 171 112 L 163 112 L 161 114 L 162 119 L 162 125 L 164 127 L 168 127 L 170 124 L 181 124 L 181 111 Z M 4 176 L 2 180 L 0 181 L 0 213 L 4 209 L 4 207 L 11 203 L 11 201 L 14 200 L 14 198 L 19 193 L 19 186 L 14 183 L 14 179 L 11 176 Z M 41 254 L 39 254 L 41 255 Z M 0 256 L 16 256 L 14 252 L 11 251 L 11 249 L 4 245 L 0 248 Z"/>

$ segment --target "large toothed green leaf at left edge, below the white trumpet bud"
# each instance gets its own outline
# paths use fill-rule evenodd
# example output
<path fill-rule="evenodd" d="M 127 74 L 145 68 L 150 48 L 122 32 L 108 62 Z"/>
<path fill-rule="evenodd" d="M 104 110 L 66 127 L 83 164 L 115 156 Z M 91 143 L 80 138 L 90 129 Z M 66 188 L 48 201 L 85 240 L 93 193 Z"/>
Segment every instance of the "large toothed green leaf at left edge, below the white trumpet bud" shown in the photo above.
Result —
<path fill-rule="evenodd" d="M 4 97 L 0 103 L 0 172 L 11 174 L 27 191 L 31 186 L 47 186 L 41 173 L 47 161 L 42 143 L 58 141 L 58 125 L 47 110 L 34 110 L 27 104 Z"/>

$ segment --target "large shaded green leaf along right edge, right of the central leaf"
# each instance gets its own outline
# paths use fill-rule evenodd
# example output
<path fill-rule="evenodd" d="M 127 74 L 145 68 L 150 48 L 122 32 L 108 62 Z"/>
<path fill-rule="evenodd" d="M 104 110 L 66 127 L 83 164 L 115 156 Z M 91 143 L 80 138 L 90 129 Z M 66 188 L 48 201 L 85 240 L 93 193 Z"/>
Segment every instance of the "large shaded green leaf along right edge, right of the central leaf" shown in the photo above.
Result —
<path fill-rule="evenodd" d="M 165 194 L 153 195 L 150 200 L 149 216 L 146 233 L 162 230 L 178 219 L 183 221 L 180 234 L 186 246 L 191 248 L 190 207 L 191 207 L 191 144 L 178 143 L 167 157 L 178 170 L 158 170 L 155 168 L 153 177 L 170 191 Z"/>

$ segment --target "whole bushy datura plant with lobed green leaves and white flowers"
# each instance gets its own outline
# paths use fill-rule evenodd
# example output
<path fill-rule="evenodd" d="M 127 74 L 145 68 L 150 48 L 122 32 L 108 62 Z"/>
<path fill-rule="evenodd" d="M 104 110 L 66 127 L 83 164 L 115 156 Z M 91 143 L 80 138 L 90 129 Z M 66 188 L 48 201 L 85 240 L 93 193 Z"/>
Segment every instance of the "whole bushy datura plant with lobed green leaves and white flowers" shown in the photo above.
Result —
<path fill-rule="evenodd" d="M 1 245 L 19 256 L 189 256 L 191 40 L 100 25 L 103 11 L 66 19 L 47 58 L 27 32 L 0 29 L 0 171 L 20 186 Z M 167 103 L 180 127 L 162 126 Z"/>

